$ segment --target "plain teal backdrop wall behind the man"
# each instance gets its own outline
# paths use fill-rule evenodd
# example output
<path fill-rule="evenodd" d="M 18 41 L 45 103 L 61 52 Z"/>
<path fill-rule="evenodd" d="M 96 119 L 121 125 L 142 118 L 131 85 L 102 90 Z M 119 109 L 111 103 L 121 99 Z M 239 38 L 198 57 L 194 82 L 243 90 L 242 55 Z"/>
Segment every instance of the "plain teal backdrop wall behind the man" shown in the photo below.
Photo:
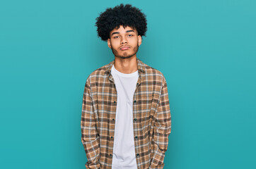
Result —
<path fill-rule="evenodd" d="M 95 18 L 147 15 L 138 58 L 168 82 L 165 168 L 256 168 L 256 1 L 0 2 L 0 168 L 85 168 L 88 75 L 114 59 Z"/>

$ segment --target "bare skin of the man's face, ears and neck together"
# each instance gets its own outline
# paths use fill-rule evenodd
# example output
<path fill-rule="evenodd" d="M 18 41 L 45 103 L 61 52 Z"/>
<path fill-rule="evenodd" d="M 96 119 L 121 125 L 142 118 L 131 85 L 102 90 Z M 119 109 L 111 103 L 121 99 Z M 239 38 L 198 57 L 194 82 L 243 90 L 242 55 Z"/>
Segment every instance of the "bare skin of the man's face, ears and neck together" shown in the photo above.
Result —
<path fill-rule="evenodd" d="M 137 68 L 136 53 L 141 45 L 141 36 L 132 27 L 115 28 L 110 32 L 107 46 L 115 55 L 115 68 L 121 73 L 134 73 Z"/>

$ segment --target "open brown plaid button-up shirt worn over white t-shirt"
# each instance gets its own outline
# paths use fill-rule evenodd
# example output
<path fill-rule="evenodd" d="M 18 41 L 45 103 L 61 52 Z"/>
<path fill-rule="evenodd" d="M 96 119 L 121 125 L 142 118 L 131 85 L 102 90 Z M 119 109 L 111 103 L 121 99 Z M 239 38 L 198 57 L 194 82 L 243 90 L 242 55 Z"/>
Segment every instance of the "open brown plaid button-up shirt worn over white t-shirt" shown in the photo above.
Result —
<path fill-rule="evenodd" d="M 81 115 L 81 140 L 88 159 L 86 168 L 112 168 L 117 108 L 117 91 L 110 73 L 114 61 L 93 71 L 86 80 Z M 133 98 L 137 168 L 163 168 L 171 130 L 167 84 L 160 71 L 138 58 L 137 65 L 139 79 Z"/>

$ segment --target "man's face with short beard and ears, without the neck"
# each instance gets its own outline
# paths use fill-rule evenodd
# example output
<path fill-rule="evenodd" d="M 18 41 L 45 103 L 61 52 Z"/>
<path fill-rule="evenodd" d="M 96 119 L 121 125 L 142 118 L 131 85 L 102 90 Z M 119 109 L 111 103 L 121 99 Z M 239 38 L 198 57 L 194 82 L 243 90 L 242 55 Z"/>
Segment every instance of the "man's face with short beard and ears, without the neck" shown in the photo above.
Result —
<path fill-rule="evenodd" d="M 120 27 L 110 32 L 110 39 L 107 39 L 107 46 L 112 49 L 113 54 L 119 58 L 131 58 L 141 45 L 141 36 L 132 27 Z"/>

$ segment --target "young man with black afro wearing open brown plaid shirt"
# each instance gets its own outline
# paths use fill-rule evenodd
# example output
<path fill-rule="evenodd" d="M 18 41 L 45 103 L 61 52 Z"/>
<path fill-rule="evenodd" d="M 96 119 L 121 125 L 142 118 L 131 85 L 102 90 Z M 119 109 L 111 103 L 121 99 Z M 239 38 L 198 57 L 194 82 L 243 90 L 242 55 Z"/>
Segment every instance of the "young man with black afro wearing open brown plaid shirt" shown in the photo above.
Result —
<path fill-rule="evenodd" d="M 115 60 L 86 80 L 81 116 L 86 168 L 163 168 L 171 130 L 167 84 L 160 71 L 136 58 L 146 16 L 120 4 L 96 20 L 98 36 Z"/>

